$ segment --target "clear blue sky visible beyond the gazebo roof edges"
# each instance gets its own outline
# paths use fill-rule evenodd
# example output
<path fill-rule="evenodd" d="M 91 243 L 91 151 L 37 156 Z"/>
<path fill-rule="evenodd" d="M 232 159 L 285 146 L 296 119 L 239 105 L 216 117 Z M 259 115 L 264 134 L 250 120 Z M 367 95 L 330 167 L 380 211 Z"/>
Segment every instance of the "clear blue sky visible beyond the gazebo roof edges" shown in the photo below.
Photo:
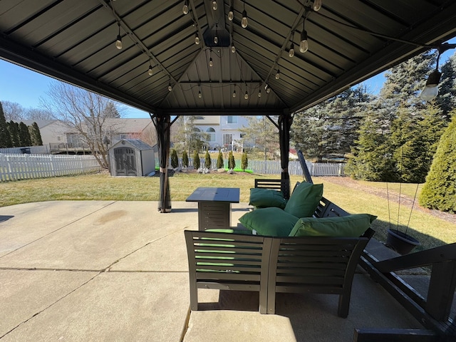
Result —
<path fill-rule="evenodd" d="M 448 42 L 456 43 L 456 37 Z M 455 50 L 442 53 L 440 66 L 453 53 Z M 383 74 L 369 78 L 363 85 L 367 86 L 369 92 L 377 94 L 385 82 Z M 40 99 L 46 100 L 46 92 L 52 81 L 53 78 L 0 59 L 0 101 L 19 103 L 24 108 L 40 108 Z M 121 112 L 124 118 L 150 118 L 149 113 L 128 105 L 124 105 Z"/>

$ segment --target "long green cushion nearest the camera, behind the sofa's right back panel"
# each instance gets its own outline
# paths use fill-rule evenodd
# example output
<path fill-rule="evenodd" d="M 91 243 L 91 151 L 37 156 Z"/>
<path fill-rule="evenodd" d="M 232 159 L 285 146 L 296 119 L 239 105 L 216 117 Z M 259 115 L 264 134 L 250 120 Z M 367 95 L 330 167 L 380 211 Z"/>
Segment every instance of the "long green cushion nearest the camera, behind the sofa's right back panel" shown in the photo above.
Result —
<path fill-rule="evenodd" d="M 289 237 L 361 237 L 376 216 L 353 214 L 342 217 L 303 217 L 296 222 Z"/>

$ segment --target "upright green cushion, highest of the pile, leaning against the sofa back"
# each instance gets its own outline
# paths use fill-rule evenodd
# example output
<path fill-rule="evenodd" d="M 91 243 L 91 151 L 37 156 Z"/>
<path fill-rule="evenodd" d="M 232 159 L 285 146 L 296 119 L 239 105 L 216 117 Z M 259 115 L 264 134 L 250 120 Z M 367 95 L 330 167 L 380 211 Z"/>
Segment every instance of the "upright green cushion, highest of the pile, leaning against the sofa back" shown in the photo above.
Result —
<path fill-rule="evenodd" d="M 323 196 L 323 184 L 301 183 L 286 203 L 285 212 L 296 217 L 311 217 Z"/>

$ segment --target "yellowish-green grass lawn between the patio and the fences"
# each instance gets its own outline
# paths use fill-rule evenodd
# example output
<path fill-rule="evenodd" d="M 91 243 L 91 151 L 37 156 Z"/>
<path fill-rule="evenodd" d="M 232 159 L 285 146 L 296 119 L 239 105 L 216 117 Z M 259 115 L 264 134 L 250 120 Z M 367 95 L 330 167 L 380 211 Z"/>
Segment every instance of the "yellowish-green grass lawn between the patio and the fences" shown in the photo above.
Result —
<path fill-rule="evenodd" d="M 196 173 L 176 173 L 170 177 L 172 201 L 185 201 L 196 187 L 239 187 L 241 202 L 249 202 L 249 189 L 254 186 L 254 178 L 278 178 L 279 176 L 250 175 L 237 172 L 234 175 L 212 172 L 207 175 Z M 21 180 L 0 183 L 0 207 L 26 202 L 51 200 L 128 200 L 157 201 L 159 177 L 110 177 L 108 174 L 53 177 L 41 180 Z M 369 213 L 378 216 L 373 223 L 375 237 L 385 241 L 389 222 L 397 219 L 398 205 L 372 192 L 362 189 L 385 191 L 385 183 L 357 182 L 358 188 L 336 184 L 331 177 L 314 177 L 314 182 L 323 183 L 323 195 L 351 213 Z M 291 176 L 291 187 L 302 177 Z M 399 185 L 389 185 L 390 192 L 398 193 Z M 416 185 L 402 185 L 402 194 L 414 197 Z M 419 188 L 420 190 L 420 188 Z M 415 204 L 418 205 L 418 204 Z M 407 224 L 410 208 L 399 210 L 401 224 Z M 393 222 L 393 227 L 395 223 Z M 447 222 L 426 212 L 414 209 L 408 232 L 423 244 L 419 249 L 456 242 L 456 224 Z"/>

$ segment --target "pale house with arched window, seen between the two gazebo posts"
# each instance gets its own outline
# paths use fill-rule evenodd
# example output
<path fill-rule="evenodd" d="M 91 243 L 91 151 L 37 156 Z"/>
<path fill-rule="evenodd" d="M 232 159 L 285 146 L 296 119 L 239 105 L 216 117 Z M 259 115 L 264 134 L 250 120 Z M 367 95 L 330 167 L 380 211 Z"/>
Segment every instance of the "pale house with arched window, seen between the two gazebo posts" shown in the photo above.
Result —
<path fill-rule="evenodd" d="M 242 150 L 244 138 L 239 128 L 247 127 L 247 118 L 238 115 L 206 115 L 195 120 L 195 127 L 207 135 L 210 150 Z"/>

